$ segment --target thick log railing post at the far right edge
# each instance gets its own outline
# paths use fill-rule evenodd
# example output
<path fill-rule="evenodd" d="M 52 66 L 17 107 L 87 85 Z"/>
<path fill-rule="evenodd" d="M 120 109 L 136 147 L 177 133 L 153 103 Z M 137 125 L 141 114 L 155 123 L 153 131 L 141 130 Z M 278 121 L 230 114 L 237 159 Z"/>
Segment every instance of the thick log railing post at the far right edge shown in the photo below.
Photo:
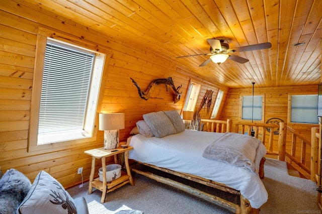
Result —
<path fill-rule="evenodd" d="M 316 127 L 311 128 L 311 181 L 316 182 L 315 174 L 318 174 L 318 139 L 316 133 L 319 130 Z"/>

